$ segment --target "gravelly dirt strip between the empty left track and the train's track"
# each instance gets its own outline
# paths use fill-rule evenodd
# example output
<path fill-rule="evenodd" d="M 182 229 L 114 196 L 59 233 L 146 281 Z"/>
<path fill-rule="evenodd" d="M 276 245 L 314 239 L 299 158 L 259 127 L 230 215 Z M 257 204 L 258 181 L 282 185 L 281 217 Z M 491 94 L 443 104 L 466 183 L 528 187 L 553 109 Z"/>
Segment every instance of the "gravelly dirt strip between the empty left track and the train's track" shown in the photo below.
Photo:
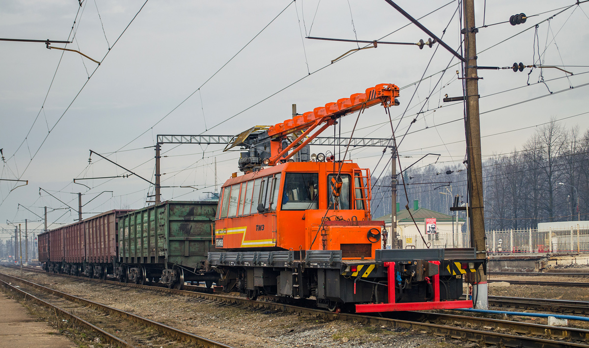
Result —
<path fill-rule="evenodd" d="M 6 267 L 0 267 L 0 271 L 20 274 Z M 452 348 L 466 344 L 414 330 L 326 321 L 305 314 L 201 301 L 110 284 L 89 284 L 43 273 L 25 271 L 24 278 L 233 347 Z"/>

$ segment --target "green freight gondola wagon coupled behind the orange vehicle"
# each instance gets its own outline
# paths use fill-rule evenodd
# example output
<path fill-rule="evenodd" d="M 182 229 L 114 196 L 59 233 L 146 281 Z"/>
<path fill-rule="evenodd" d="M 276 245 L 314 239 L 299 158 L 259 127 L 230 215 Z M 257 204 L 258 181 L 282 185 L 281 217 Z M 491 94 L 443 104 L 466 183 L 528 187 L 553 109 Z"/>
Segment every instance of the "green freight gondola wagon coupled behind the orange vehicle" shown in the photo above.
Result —
<path fill-rule="evenodd" d="M 217 201 L 165 201 L 119 218 L 120 281 L 161 281 L 181 289 L 184 281 L 205 281 L 211 286 L 216 272 L 205 272 L 213 250 L 211 224 Z"/>

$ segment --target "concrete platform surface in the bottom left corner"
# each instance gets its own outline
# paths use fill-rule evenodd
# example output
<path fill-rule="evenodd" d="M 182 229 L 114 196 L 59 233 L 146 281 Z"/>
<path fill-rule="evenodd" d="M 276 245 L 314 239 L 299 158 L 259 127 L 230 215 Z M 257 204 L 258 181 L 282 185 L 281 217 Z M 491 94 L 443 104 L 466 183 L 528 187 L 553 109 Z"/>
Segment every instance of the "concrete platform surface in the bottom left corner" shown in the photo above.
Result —
<path fill-rule="evenodd" d="M 45 322 L 37 322 L 22 304 L 0 292 L 0 348 L 70 348 L 76 344 L 55 333 Z"/>

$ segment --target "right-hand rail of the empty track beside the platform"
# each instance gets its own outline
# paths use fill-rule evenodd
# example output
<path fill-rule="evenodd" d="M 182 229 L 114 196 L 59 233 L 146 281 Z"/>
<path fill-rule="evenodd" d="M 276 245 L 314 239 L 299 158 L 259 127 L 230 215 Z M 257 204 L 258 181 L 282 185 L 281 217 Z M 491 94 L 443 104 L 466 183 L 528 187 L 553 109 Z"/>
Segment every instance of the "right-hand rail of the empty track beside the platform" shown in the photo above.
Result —
<path fill-rule="evenodd" d="M 216 342 L 205 337 L 197 336 L 196 334 L 191 334 L 182 330 L 174 329 L 174 327 L 167 326 L 162 323 L 154 322 L 153 320 L 137 316 L 135 314 L 131 314 L 127 311 L 123 311 L 120 309 L 116 309 L 114 307 L 107 306 L 105 304 L 97 303 L 94 301 L 82 299 L 81 297 L 73 296 L 71 294 L 64 293 L 62 291 L 58 291 L 55 289 L 51 289 L 37 283 L 32 283 L 32 281 L 24 280 L 18 277 L 9 276 L 8 274 L 0 273 L 0 280 L 10 279 L 11 281 L 17 281 L 22 284 L 26 284 L 27 286 L 34 287 L 36 289 L 57 295 L 64 299 L 67 299 L 72 302 L 80 303 L 83 306 L 93 307 L 95 309 L 105 311 L 108 314 L 123 317 L 125 319 L 130 319 L 135 323 L 143 324 L 144 326 L 153 327 L 154 329 L 163 332 L 171 337 L 177 337 L 182 340 L 186 340 L 187 342 L 196 343 L 204 348 L 232 348 L 231 346 L 227 346 L 226 344 Z"/>

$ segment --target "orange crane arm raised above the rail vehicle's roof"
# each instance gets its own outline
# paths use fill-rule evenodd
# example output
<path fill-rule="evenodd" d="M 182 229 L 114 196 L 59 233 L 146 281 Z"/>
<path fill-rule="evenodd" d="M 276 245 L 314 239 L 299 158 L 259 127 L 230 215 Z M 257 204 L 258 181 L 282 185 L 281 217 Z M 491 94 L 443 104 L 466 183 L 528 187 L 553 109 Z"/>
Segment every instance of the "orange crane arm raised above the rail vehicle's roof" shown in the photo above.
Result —
<path fill-rule="evenodd" d="M 285 148 L 281 148 L 281 141 L 273 141 L 272 157 L 270 157 L 269 165 L 274 165 L 279 160 L 288 160 L 323 130 L 333 125 L 337 118 L 377 104 L 383 105 L 384 107 L 395 105 L 396 97 L 399 97 L 399 87 L 393 84 L 379 84 L 375 87 L 368 88 L 364 93 L 352 94 L 349 98 L 342 98 L 337 100 L 337 102 L 328 102 L 325 104 L 325 107 L 315 108 L 313 111 L 293 117 L 292 120 L 285 120 L 282 123 L 270 126 L 268 135 L 272 138 L 284 138 L 286 135 L 294 132 L 305 131 Z M 319 128 L 314 134 L 309 135 L 310 132 L 323 123 L 325 123 L 323 127 Z M 307 135 L 309 137 L 300 143 Z M 290 154 L 284 156 L 293 148 L 294 150 Z"/>

